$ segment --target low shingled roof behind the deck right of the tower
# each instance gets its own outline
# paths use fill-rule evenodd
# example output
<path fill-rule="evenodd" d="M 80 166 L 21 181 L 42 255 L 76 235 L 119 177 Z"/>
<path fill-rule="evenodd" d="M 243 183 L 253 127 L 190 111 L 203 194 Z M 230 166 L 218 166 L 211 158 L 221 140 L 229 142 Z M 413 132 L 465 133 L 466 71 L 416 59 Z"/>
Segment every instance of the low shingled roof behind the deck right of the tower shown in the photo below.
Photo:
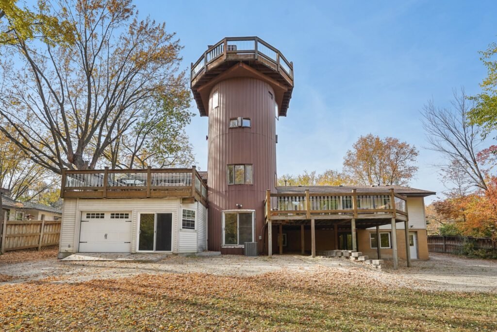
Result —
<path fill-rule="evenodd" d="M 352 189 L 356 189 L 358 192 L 363 193 L 388 193 L 392 188 L 397 194 L 409 197 L 436 195 L 433 191 L 404 186 L 284 186 L 276 187 L 276 190 L 278 194 L 303 194 L 306 190 L 309 190 L 309 193 L 311 194 L 349 193 Z"/>

